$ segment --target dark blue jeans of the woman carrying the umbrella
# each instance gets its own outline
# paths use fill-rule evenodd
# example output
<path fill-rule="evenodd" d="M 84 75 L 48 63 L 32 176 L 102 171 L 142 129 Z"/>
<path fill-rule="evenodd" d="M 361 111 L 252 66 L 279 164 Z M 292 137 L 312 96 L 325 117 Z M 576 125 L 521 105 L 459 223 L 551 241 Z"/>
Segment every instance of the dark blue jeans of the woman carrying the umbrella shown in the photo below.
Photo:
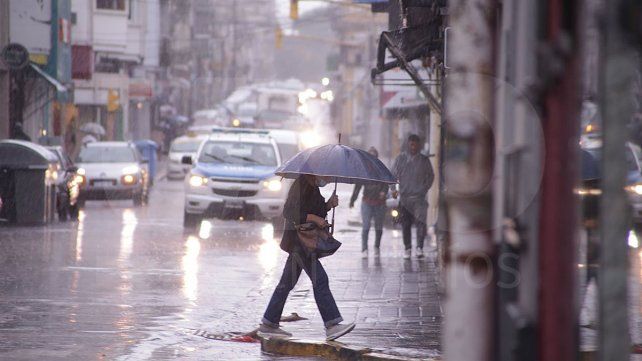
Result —
<path fill-rule="evenodd" d="M 281 280 L 272 294 L 265 314 L 263 314 L 262 322 L 272 327 L 279 326 L 285 301 L 299 280 L 301 269 L 305 270 L 305 273 L 310 277 L 310 281 L 312 281 L 314 300 L 317 303 L 325 327 L 331 327 L 343 321 L 337 308 L 337 303 L 334 301 L 332 292 L 330 292 L 328 275 L 325 273 L 321 262 L 314 256 L 306 256 L 301 246 L 297 244 L 285 262 Z"/>

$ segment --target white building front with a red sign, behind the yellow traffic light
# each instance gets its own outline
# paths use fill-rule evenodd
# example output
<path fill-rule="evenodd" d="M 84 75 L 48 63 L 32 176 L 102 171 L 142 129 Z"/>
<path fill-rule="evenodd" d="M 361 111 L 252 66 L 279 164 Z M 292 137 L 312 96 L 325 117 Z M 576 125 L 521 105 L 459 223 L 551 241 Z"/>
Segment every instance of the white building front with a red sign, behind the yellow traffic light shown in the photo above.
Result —
<path fill-rule="evenodd" d="M 158 1 L 72 2 L 77 126 L 99 123 L 105 139 L 149 137 L 155 72 L 146 67 L 157 65 L 158 47 L 148 44 L 159 39 L 160 20 L 151 17 L 158 7 Z"/>

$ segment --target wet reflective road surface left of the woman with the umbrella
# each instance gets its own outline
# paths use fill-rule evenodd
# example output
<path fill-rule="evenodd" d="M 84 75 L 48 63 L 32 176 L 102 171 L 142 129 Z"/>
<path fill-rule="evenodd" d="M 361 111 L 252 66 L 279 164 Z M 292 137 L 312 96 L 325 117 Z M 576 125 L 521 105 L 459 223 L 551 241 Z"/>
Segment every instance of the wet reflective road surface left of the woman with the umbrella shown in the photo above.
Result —
<path fill-rule="evenodd" d="M 162 181 L 146 207 L 1 228 L 0 359 L 287 359 L 193 335 L 253 330 L 284 253 L 263 222 L 184 233 L 182 205 L 182 183 Z"/>

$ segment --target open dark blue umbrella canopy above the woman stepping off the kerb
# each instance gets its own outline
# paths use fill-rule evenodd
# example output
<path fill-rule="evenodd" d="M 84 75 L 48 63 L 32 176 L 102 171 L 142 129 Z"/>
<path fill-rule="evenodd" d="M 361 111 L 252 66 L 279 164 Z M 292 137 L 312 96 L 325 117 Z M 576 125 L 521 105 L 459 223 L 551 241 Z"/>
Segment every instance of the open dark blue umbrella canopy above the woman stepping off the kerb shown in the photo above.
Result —
<path fill-rule="evenodd" d="M 274 173 L 284 178 L 298 178 L 301 174 L 325 176 L 350 184 L 397 183 L 390 170 L 375 156 L 342 144 L 306 149 Z"/>

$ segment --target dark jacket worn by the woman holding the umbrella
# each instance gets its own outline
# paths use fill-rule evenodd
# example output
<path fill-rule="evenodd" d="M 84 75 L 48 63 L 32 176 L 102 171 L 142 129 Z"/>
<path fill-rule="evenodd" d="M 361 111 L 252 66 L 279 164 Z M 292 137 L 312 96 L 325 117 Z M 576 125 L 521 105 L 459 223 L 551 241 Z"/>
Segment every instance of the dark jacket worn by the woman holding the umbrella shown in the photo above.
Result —
<path fill-rule="evenodd" d="M 311 185 L 304 177 L 299 177 L 292 184 L 283 207 L 285 229 L 281 239 L 282 250 L 288 253 L 292 251 L 292 247 L 296 244 L 295 242 L 298 242 L 294 226 L 305 223 L 308 214 L 315 214 L 325 218 L 328 215 L 328 210 L 319 187 Z"/>

